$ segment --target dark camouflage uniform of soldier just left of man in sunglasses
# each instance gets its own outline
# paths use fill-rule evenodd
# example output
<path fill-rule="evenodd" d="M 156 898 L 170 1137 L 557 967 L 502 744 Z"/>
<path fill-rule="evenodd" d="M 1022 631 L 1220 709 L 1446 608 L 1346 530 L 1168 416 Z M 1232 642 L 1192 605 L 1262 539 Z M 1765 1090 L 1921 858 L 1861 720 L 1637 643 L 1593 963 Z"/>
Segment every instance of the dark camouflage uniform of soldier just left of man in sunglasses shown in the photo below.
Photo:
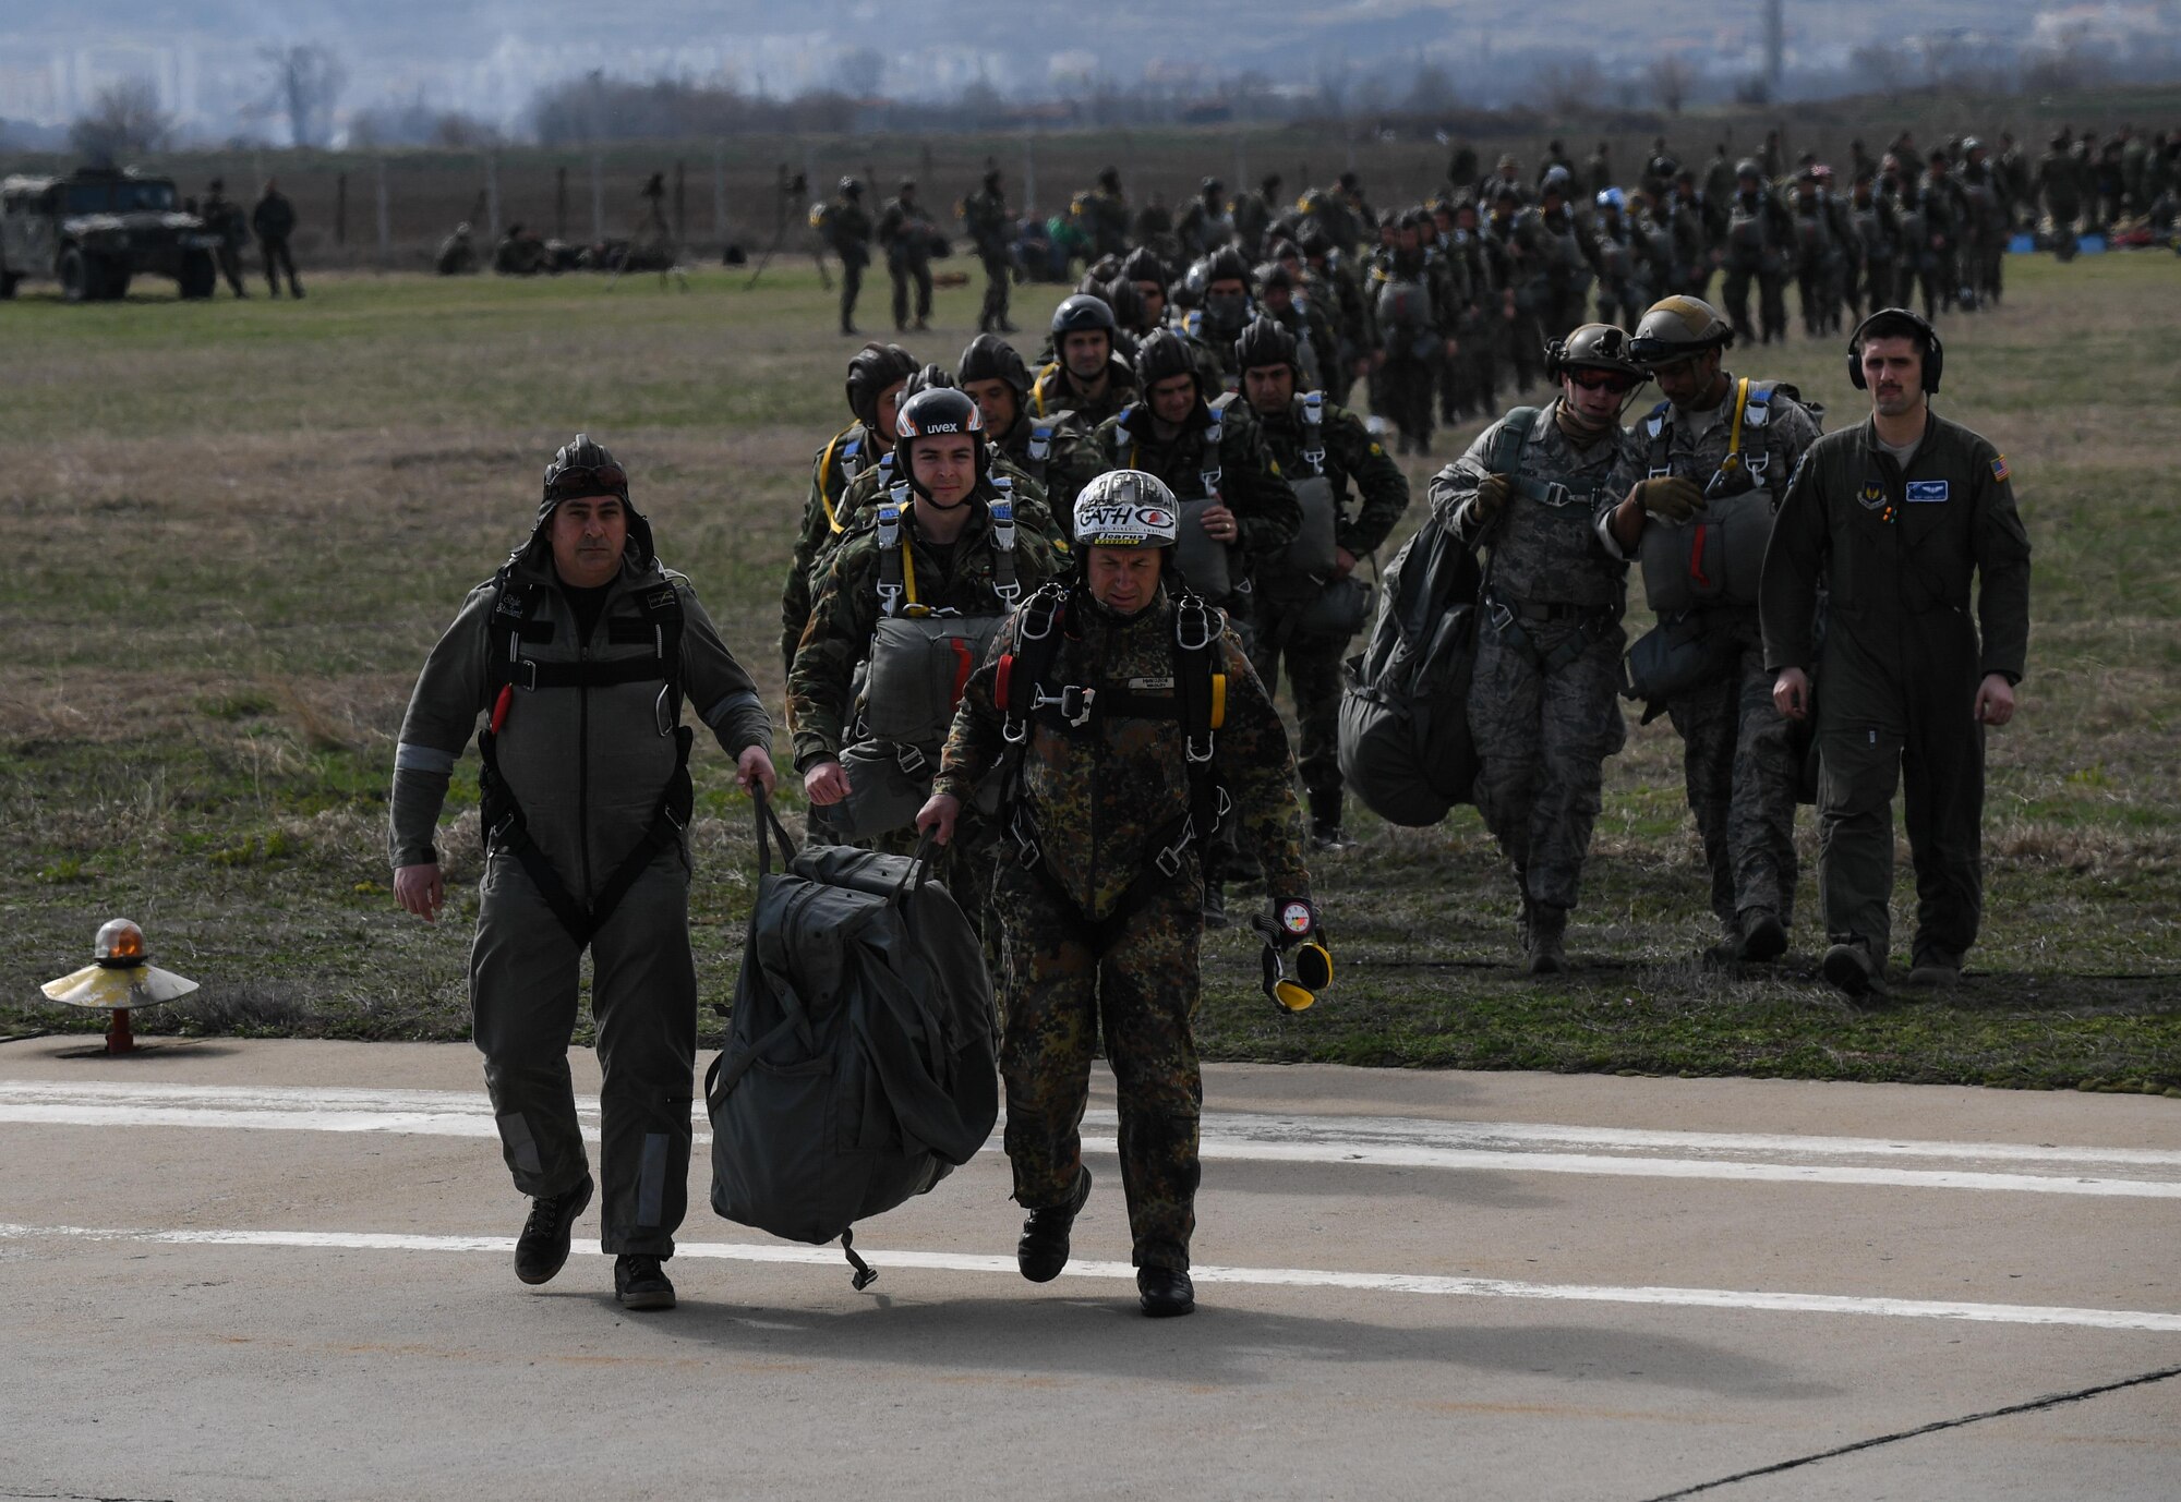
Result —
<path fill-rule="evenodd" d="M 1302 399 L 1287 412 L 1256 412 L 1265 447 L 1282 475 L 1309 477 L 1313 462 L 1304 456 L 1309 432 L 1302 421 Z M 1354 412 L 1326 403 L 1320 423 L 1324 475 L 1333 482 L 1339 523 L 1333 541 L 1363 558 L 1385 543 L 1394 523 L 1409 510 L 1409 477 L 1387 456 L 1385 445 L 1370 436 Z M 1359 497 L 1352 493 L 1361 493 Z M 1352 501 L 1359 501 L 1350 510 Z M 1326 593 L 1326 580 L 1289 573 L 1285 560 L 1258 569 L 1256 576 L 1256 645 L 1250 663 L 1265 680 L 1265 693 L 1280 691 L 1280 658 L 1287 658 L 1287 685 L 1296 700 L 1296 730 L 1302 741 L 1302 787 L 1311 798 L 1313 826 L 1341 822 L 1341 767 L 1335 756 L 1341 708 L 1341 654 L 1346 637 L 1311 634 L 1302 621 Z"/>

